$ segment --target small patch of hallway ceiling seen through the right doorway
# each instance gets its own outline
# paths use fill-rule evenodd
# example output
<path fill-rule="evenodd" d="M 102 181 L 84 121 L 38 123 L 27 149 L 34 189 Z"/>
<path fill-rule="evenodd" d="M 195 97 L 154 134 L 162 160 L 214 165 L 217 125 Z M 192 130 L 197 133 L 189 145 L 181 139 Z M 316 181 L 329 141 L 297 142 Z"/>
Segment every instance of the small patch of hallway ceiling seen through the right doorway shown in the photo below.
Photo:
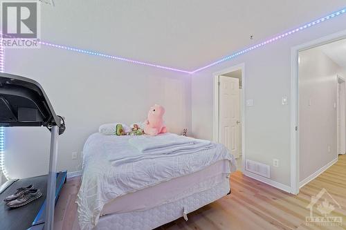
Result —
<path fill-rule="evenodd" d="M 320 49 L 336 64 L 346 70 L 346 39 L 321 46 Z"/>

